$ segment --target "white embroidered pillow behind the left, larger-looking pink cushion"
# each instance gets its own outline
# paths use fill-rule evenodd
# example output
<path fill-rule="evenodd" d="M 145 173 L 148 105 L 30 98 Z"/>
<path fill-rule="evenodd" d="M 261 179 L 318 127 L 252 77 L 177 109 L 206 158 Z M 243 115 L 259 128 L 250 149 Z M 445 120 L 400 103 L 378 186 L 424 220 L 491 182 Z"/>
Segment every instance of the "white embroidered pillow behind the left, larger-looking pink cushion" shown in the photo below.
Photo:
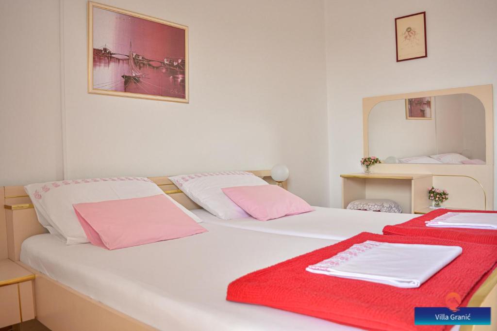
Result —
<path fill-rule="evenodd" d="M 74 203 L 131 199 L 165 194 L 154 182 L 144 177 L 93 178 L 66 180 L 24 187 L 31 198 L 40 223 L 67 245 L 89 242 L 73 208 Z M 172 200 L 197 223 L 201 220 Z M 137 220 L 139 221 L 139 220 Z"/>

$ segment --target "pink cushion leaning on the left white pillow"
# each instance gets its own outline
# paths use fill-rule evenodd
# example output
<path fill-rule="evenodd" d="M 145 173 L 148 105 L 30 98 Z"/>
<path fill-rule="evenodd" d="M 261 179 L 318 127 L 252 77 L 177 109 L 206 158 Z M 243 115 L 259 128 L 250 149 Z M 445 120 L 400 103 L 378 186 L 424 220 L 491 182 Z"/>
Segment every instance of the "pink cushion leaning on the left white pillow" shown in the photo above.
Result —
<path fill-rule="evenodd" d="M 89 242 L 109 250 L 207 232 L 162 194 L 73 207 Z"/>

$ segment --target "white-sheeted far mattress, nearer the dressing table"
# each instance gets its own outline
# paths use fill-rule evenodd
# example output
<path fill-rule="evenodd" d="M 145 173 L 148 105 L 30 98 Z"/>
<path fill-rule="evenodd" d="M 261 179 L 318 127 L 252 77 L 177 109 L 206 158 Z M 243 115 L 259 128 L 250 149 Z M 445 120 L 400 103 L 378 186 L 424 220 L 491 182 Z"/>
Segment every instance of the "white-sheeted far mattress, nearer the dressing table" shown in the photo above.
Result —
<path fill-rule="evenodd" d="M 344 240 L 361 232 L 382 233 L 385 225 L 406 222 L 418 215 L 314 207 L 299 215 L 259 221 L 252 217 L 224 220 L 205 209 L 191 210 L 205 223 L 259 232 L 308 238 Z"/>

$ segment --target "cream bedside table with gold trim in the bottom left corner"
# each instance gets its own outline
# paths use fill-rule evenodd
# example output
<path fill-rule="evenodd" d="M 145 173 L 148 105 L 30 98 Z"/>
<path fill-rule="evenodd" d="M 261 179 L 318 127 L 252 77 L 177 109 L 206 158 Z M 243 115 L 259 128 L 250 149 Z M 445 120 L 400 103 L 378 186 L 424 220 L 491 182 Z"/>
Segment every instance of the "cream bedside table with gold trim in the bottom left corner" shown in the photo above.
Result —
<path fill-rule="evenodd" d="M 34 319 L 34 278 L 11 260 L 0 260 L 0 328 Z"/>

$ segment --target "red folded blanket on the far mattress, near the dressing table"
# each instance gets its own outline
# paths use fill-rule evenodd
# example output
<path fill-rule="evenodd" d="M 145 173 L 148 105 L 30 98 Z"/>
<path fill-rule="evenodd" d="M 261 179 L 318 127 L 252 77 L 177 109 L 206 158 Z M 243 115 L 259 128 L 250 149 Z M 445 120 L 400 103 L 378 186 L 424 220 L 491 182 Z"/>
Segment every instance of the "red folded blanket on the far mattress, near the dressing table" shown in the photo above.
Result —
<path fill-rule="evenodd" d="M 467 241 L 477 244 L 497 245 L 497 230 L 484 229 L 458 229 L 458 228 L 434 228 L 425 225 L 425 221 L 448 212 L 488 212 L 492 210 L 451 210 L 435 209 L 427 214 L 413 218 L 407 222 L 397 225 L 387 225 L 383 228 L 384 234 L 396 234 L 401 236 L 433 237 L 457 241 Z"/>

